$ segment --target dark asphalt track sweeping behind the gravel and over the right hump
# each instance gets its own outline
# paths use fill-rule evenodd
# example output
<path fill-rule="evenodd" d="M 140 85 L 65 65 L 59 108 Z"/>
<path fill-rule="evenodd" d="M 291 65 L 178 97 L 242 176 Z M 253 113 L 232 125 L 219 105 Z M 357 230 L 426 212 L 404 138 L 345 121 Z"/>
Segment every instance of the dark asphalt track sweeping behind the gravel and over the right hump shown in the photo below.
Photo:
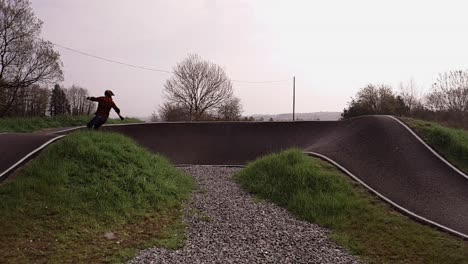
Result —
<path fill-rule="evenodd" d="M 175 164 L 246 164 L 290 147 L 317 152 L 400 206 L 468 234 L 468 179 L 386 116 L 341 122 L 154 123 L 104 129 L 130 136 Z M 10 155 L 1 141 L 0 154 Z M 2 159 L 2 170 L 3 163 Z"/>

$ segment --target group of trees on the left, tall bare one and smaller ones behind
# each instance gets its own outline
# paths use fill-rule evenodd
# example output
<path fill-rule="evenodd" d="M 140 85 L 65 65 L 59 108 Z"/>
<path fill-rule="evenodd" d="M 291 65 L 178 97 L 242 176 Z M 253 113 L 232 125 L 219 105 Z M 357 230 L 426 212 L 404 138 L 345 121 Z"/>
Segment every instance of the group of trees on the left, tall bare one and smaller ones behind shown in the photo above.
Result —
<path fill-rule="evenodd" d="M 42 24 L 29 0 L 0 0 L 0 117 L 91 114 L 87 89 L 47 88 L 63 81 L 63 64 Z"/>

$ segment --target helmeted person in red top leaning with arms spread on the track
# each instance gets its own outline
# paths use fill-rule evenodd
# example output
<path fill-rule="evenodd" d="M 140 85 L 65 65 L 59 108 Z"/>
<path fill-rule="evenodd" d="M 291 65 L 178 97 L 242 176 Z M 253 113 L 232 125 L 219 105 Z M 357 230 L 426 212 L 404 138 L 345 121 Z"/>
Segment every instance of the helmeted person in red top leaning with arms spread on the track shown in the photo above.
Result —
<path fill-rule="evenodd" d="M 90 101 L 98 102 L 98 109 L 96 110 L 95 117 L 89 121 L 87 125 L 88 128 L 94 127 L 94 129 L 99 129 L 99 127 L 107 121 L 111 108 L 114 108 L 120 119 L 124 120 L 124 118 L 120 115 L 120 109 L 112 100 L 114 93 L 111 90 L 106 90 L 104 95 L 105 96 L 100 97 L 86 97 L 86 99 Z"/>

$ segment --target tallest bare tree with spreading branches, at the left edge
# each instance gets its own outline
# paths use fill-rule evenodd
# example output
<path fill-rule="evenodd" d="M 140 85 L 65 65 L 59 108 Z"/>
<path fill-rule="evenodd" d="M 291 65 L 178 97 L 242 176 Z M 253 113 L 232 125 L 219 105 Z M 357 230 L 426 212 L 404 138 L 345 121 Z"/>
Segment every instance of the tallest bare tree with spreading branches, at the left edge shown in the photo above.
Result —
<path fill-rule="evenodd" d="M 0 0 L 0 117 L 21 89 L 63 79 L 59 53 L 38 39 L 41 27 L 29 0 Z"/>

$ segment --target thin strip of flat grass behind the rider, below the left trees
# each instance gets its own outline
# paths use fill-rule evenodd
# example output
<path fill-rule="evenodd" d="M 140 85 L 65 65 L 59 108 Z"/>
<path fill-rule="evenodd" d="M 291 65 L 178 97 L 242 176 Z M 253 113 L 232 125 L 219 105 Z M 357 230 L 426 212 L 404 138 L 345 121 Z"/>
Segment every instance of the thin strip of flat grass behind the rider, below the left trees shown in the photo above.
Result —
<path fill-rule="evenodd" d="M 0 118 L 0 132 L 33 132 L 45 128 L 72 127 L 86 125 L 93 116 L 56 116 L 56 117 L 6 117 Z M 136 118 L 109 118 L 106 124 L 141 123 Z"/>

